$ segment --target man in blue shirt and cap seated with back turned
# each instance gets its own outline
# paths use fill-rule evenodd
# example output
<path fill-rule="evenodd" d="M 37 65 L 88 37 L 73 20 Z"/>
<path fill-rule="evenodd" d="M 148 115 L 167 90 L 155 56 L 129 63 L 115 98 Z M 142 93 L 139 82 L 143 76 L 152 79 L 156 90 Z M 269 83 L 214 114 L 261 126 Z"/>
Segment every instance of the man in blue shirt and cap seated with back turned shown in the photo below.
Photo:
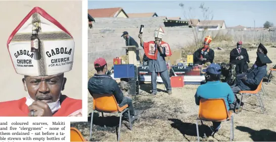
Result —
<path fill-rule="evenodd" d="M 218 99 L 223 98 L 229 110 L 229 105 L 234 102 L 234 93 L 227 83 L 220 82 L 221 68 L 216 63 L 211 63 L 208 68 L 203 69 L 205 74 L 206 84 L 201 85 L 197 89 L 195 95 L 196 104 L 199 105 L 200 98 L 204 99 Z M 211 126 L 212 134 L 217 132 L 220 128 L 221 122 L 213 122 Z"/>

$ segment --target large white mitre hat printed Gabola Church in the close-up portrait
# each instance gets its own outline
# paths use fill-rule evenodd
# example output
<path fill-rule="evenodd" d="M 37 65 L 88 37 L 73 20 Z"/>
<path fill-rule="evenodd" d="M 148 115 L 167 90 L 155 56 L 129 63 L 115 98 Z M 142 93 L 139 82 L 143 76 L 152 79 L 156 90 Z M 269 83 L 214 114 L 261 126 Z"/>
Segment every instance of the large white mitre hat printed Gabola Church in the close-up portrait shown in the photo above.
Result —
<path fill-rule="evenodd" d="M 31 36 L 36 41 L 31 42 Z M 37 52 L 31 52 L 34 44 Z M 7 47 L 17 74 L 52 76 L 72 69 L 75 47 L 72 35 L 39 7 L 33 8 L 15 28 Z"/>

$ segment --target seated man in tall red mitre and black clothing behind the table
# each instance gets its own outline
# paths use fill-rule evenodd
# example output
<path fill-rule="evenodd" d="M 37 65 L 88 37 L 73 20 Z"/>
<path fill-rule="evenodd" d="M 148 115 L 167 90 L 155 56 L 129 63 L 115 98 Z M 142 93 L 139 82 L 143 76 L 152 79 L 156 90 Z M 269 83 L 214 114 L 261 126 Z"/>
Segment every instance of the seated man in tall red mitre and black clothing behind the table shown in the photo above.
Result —
<path fill-rule="evenodd" d="M 194 52 L 194 64 L 202 65 L 207 62 L 213 63 L 215 52 L 209 47 L 211 41 L 211 36 L 205 37 L 203 47 Z"/>

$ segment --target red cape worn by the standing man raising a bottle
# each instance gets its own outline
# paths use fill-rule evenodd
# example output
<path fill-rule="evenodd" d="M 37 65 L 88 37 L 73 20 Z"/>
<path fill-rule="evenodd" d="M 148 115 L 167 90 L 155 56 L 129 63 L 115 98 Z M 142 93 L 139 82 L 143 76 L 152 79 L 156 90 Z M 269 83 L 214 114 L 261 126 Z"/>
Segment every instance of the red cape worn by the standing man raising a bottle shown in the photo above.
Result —
<path fill-rule="evenodd" d="M 165 48 L 166 56 L 171 56 L 171 50 L 168 43 L 161 41 L 161 46 Z M 157 60 L 158 48 L 155 49 L 155 42 L 144 42 L 144 51 L 148 58 Z"/>

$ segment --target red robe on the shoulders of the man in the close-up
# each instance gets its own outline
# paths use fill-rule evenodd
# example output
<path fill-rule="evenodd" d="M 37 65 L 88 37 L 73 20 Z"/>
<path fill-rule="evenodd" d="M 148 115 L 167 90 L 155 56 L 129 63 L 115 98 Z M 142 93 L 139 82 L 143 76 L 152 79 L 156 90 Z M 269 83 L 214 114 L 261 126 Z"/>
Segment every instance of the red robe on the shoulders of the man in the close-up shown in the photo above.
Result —
<path fill-rule="evenodd" d="M 61 95 L 60 102 L 61 108 L 53 116 L 69 116 L 73 112 L 82 109 L 82 100 Z M 25 103 L 25 97 L 19 100 L 0 102 L 0 116 L 28 116 L 29 109 Z"/>

